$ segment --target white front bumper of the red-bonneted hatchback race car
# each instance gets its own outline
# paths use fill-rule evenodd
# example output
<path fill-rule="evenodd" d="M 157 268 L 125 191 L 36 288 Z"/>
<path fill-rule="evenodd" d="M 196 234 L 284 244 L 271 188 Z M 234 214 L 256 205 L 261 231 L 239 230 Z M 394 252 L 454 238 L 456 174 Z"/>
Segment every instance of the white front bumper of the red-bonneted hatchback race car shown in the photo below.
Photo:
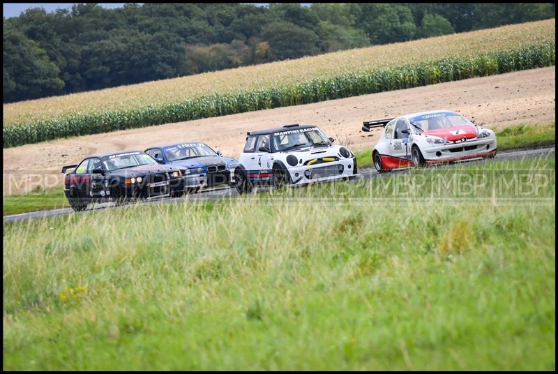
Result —
<path fill-rule="evenodd" d="M 421 149 L 426 163 L 451 162 L 453 160 L 491 156 L 492 152 L 495 151 L 495 137 Z"/>

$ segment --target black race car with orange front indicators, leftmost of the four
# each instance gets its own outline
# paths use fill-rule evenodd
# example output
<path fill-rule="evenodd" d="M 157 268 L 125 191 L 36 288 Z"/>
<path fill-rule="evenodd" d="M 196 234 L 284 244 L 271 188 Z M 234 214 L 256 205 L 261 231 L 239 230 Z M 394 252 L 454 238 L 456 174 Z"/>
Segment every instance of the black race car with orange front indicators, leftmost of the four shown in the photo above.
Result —
<path fill-rule="evenodd" d="M 181 193 L 188 188 L 177 167 L 159 165 L 142 151 L 120 151 L 84 158 L 64 178 L 64 193 L 75 211 L 92 202 L 149 199 Z"/>

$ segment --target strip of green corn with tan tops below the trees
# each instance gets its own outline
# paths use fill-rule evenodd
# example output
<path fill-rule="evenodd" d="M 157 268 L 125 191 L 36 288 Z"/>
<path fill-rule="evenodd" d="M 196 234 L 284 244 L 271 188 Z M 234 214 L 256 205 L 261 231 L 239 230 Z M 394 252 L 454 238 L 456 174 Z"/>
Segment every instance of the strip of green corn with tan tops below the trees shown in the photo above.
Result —
<path fill-rule="evenodd" d="M 555 20 L 533 22 L 533 24 L 538 24 L 539 27 L 540 24 L 543 24 L 546 30 L 548 26 L 555 24 Z M 515 25 L 513 27 L 525 29 L 525 25 Z M 499 29 L 505 29 L 505 27 Z M 33 100 L 33 102 L 40 102 L 41 105 L 45 105 L 45 103 L 49 102 L 48 100 L 65 100 L 63 103 L 61 102 L 61 110 L 55 109 L 57 105 L 50 107 L 50 110 L 35 110 L 33 106 L 29 106 L 33 102 L 4 105 L 3 147 L 16 147 L 22 144 L 43 142 L 60 137 L 106 133 L 114 130 L 218 117 L 253 110 L 317 103 L 319 101 L 347 98 L 367 93 L 407 89 L 426 84 L 450 82 L 470 77 L 482 77 L 515 70 L 555 65 L 556 47 L 553 35 L 548 36 L 544 34 L 541 36 L 541 33 L 539 33 L 534 36 L 534 33 L 526 33 L 525 39 L 534 43 L 515 45 L 509 40 L 509 35 L 505 37 L 505 33 L 495 31 L 499 29 L 492 30 L 495 38 L 502 38 L 505 42 L 501 43 L 502 45 L 511 45 L 512 47 L 494 47 L 492 50 L 477 52 L 473 55 L 463 54 L 462 51 L 449 51 L 447 56 L 450 57 L 435 60 L 428 60 L 426 56 L 429 55 L 425 54 L 422 57 L 424 61 L 411 58 L 409 59 L 410 62 L 408 62 L 407 59 L 400 59 L 391 65 L 371 61 L 368 68 L 364 68 L 365 65 L 362 63 L 366 57 L 361 56 L 355 57 L 355 59 L 359 59 L 360 63 L 346 61 L 348 66 L 352 66 L 351 64 L 354 66 L 347 69 L 339 68 L 336 73 L 332 73 L 330 69 L 327 72 L 324 70 L 322 74 L 314 75 L 311 73 L 308 75 L 310 77 L 308 79 L 294 77 L 290 80 L 286 79 L 282 83 L 278 80 L 273 80 L 271 82 L 263 81 L 261 84 L 233 84 L 227 89 L 220 89 L 218 84 L 216 84 L 213 91 L 202 90 L 198 93 L 192 93 L 191 97 L 186 96 L 182 99 L 169 96 L 165 99 L 154 99 L 151 103 L 140 102 L 141 100 L 138 99 L 140 101 L 135 103 L 122 104 L 123 101 L 129 99 L 133 89 L 137 89 L 137 87 L 129 87 L 130 91 L 128 91 L 128 94 L 121 91 L 126 87 L 119 87 L 117 89 L 97 91 L 98 95 L 101 95 L 101 93 L 105 95 L 103 100 L 95 100 L 93 97 L 89 97 L 87 101 L 95 103 L 92 108 L 89 108 L 90 110 L 86 108 L 81 110 L 68 109 L 71 108 L 71 103 L 68 104 L 68 101 L 72 98 L 75 100 L 75 107 L 82 105 L 80 100 L 76 100 L 81 97 L 81 94 Z M 465 34 L 460 34 L 462 42 L 469 40 L 463 38 L 463 35 Z M 456 36 L 451 37 L 455 38 Z M 516 36 L 516 38 L 518 37 L 519 35 Z M 439 38 L 431 39 L 437 40 Z M 406 50 L 409 51 L 409 54 L 414 54 L 413 51 L 418 46 L 418 43 L 425 45 L 428 40 L 430 39 L 398 43 L 398 45 L 407 45 Z M 523 42 L 525 43 L 525 40 Z M 413 43 L 416 43 L 415 47 L 412 47 Z M 432 41 L 431 43 L 434 42 Z M 437 43 L 439 44 L 439 42 Z M 453 43 L 458 43 L 458 41 L 453 40 Z M 389 47 L 393 50 L 395 46 L 379 47 Z M 352 53 L 355 53 L 355 51 L 359 50 L 354 50 Z M 347 53 L 347 51 L 342 53 Z M 439 53 L 430 55 L 438 56 Z M 324 56 L 324 58 L 327 57 L 326 55 Z M 312 59 L 315 59 L 317 62 L 318 58 L 320 57 L 313 57 Z M 331 57 L 329 58 L 331 59 Z M 303 60 L 305 59 L 300 61 L 302 69 L 308 67 L 308 63 Z M 325 62 L 331 63 L 330 68 L 333 68 L 335 65 L 341 66 L 342 61 L 338 60 Z M 299 60 L 287 62 L 294 63 L 296 61 Z M 250 68 L 258 68 L 258 66 Z M 246 71 L 248 68 L 243 69 Z M 242 69 L 229 70 L 231 78 L 233 75 L 238 77 L 241 72 Z M 224 74 L 225 72 L 217 73 Z M 208 74 L 196 77 L 198 80 L 204 77 L 210 80 Z M 177 80 L 184 80 L 183 82 L 186 82 L 186 78 L 188 77 L 178 78 Z M 157 87 L 152 87 L 152 91 L 167 91 L 170 87 L 170 81 L 174 80 L 167 80 L 168 87 L 162 85 L 165 81 L 151 82 L 152 85 L 159 84 Z M 257 83 L 254 80 L 251 82 Z M 108 102 L 107 100 L 109 99 L 106 97 L 106 94 L 107 91 L 111 90 L 114 90 L 112 92 L 115 95 Z M 178 87 L 175 87 L 175 91 L 179 91 Z M 117 92 L 119 94 L 116 94 Z M 93 93 L 86 94 L 92 95 Z M 52 101 L 52 103 L 56 102 Z M 39 104 L 34 103 L 33 105 Z"/>

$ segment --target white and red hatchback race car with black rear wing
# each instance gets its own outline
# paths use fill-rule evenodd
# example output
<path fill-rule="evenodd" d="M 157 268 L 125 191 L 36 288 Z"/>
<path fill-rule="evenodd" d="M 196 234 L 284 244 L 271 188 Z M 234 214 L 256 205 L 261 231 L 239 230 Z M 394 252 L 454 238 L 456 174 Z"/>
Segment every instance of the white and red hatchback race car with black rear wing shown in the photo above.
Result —
<path fill-rule="evenodd" d="M 362 130 L 375 127 L 384 127 L 372 151 L 379 172 L 496 155 L 494 131 L 449 110 L 366 121 Z"/>

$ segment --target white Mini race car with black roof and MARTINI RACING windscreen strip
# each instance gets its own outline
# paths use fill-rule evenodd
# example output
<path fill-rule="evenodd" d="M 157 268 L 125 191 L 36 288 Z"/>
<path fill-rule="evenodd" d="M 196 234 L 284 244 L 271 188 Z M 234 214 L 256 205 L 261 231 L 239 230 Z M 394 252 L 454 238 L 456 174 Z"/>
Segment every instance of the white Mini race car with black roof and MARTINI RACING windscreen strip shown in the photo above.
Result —
<path fill-rule="evenodd" d="M 234 170 L 236 189 L 281 187 L 357 176 L 356 157 L 333 145 L 316 126 L 287 125 L 253 131 Z"/>

